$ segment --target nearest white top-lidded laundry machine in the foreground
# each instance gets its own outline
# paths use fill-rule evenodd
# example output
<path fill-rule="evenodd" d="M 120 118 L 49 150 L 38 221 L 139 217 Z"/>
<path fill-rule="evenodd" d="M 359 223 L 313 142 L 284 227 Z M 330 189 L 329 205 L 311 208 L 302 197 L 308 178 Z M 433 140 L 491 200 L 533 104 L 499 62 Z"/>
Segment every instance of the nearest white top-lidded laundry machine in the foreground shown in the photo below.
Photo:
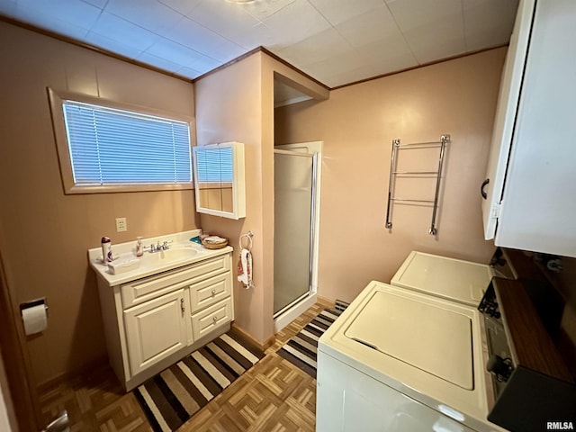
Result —
<path fill-rule="evenodd" d="M 479 311 L 374 281 L 320 338 L 316 430 L 501 431 L 484 371 Z"/>

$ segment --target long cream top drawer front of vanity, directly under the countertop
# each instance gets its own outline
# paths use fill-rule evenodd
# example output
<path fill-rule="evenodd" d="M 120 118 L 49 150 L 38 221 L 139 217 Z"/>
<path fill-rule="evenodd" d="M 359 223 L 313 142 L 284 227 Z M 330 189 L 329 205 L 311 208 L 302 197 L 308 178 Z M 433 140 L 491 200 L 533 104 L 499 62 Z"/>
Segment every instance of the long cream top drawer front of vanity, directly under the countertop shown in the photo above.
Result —
<path fill-rule="evenodd" d="M 147 302 L 184 286 L 197 284 L 204 279 L 228 272 L 231 266 L 229 254 L 200 261 L 190 266 L 176 268 L 160 275 L 144 277 L 130 284 L 121 285 L 123 309 Z"/>

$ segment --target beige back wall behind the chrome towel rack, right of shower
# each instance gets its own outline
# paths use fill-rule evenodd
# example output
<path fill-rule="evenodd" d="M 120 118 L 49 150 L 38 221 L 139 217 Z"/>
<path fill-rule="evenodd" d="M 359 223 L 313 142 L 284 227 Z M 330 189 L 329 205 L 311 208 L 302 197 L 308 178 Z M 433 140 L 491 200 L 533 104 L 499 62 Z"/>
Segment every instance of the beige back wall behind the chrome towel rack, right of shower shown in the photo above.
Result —
<path fill-rule="evenodd" d="M 325 102 L 276 110 L 276 144 L 324 141 L 320 296 L 353 300 L 369 281 L 390 281 L 413 249 L 488 261 L 493 245 L 483 239 L 480 184 L 505 55 L 506 49 L 493 49 L 347 86 Z M 392 139 L 430 141 L 443 133 L 452 142 L 437 238 L 428 235 L 429 207 L 394 206 L 389 232 L 384 221 Z M 437 163 L 435 155 L 419 155 Z M 403 193 L 433 198 L 434 188 L 426 184 L 411 181 Z"/>

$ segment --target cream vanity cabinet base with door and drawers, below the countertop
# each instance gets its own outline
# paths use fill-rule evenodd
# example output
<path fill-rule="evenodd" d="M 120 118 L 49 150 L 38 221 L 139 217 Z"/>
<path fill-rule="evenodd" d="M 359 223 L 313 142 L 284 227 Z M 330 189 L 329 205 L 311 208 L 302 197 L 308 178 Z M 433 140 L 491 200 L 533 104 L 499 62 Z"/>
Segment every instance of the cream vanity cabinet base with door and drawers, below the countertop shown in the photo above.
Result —
<path fill-rule="evenodd" d="M 227 247 L 124 284 L 98 277 L 110 363 L 127 391 L 228 331 L 231 270 Z"/>

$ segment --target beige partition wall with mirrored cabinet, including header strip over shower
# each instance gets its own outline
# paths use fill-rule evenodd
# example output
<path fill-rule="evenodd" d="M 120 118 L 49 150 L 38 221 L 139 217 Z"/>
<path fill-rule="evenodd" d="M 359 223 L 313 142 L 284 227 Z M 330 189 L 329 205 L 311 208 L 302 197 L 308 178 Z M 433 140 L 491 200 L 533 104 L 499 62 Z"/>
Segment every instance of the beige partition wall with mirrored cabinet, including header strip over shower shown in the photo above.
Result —
<path fill-rule="evenodd" d="M 280 73 L 316 97 L 328 91 L 263 52 L 196 81 L 198 145 L 245 144 L 246 218 L 227 220 L 202 214 L 202 229 L 230 239 L 254 231 L 255 288 L 235 284 L 236 325 L 261 343 L 274 335 L 274 79 Z"/>

